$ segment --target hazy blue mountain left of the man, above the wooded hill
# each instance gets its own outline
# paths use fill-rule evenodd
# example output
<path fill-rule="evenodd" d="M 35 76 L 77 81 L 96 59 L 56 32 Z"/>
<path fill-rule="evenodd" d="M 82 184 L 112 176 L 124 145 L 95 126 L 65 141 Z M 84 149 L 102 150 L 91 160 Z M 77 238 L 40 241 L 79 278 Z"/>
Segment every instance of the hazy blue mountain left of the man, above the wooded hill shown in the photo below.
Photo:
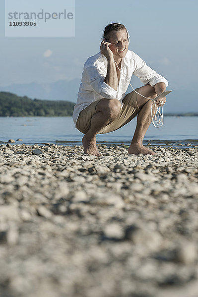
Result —
<path fill-rule="evenodd" d="M 59 80 L 54 83 L 12 84 L 0 91 L 27 96 L 31 99 L 66 100 L 76 102 L 80 79 Z"/>

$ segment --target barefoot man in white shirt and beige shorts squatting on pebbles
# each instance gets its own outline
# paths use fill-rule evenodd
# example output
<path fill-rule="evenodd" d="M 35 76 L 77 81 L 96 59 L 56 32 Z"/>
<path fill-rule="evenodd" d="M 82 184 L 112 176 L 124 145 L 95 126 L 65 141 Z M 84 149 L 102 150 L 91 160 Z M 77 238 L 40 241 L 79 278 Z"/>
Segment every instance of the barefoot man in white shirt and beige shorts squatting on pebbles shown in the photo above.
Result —
<path fill-rule="evenodd" d="M 137 115 L 136 129 L 129 147 L 131 154 L 154 154 L 142 141 L 151 123 L 151 100 L 166 90 L 167 80 L 128 50 L 129 33 L 120 23 L 105 27 L 100 52 L 84 64 L 82 83 L 73 120 L 84 134 L 84 152 L 99 155 L 96 135 L 119 129 Z M 132 74 L 145 85 L 126 95 Z M 147 99 L 145 99 L 144 97 Z M 155 104 L 164 105 L 166 98 Z"/>

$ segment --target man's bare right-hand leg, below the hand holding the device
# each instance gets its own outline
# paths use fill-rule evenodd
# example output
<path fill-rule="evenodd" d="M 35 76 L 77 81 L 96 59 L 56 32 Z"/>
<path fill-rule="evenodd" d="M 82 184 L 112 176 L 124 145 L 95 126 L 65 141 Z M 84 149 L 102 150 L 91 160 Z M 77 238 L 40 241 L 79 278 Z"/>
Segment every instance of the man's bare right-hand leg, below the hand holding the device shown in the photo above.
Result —
<path fill-rule="evenodd" d="M 155 89 L 150 85 L 139 88 L 138 93 L 150 99 L 157 96 Z M 143 155 L 155 154 L 152 150 L 143 146 L 143 138 L 152 120 L 151 104 L 153 102 L 150 99 L 145 99 L 140 95 L 137 95 L 137 105 L 140 108 L 140 111 L 137 115 L 137 125 L 132 138 L 132 143 L 129 147 L 129 153 L 133 153 L 135 155 L 139 153 L 142 153 Z"/>

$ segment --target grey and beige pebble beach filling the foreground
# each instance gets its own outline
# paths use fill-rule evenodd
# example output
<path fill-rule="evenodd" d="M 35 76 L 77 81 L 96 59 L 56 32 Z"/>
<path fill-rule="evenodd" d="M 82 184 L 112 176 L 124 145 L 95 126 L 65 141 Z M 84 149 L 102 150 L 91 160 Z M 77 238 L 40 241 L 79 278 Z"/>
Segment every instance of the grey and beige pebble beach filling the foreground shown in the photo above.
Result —
<path fill-rule="evenodd" d="M 197 297 L 198 148 L 0 145 L 0 296 Z"/>

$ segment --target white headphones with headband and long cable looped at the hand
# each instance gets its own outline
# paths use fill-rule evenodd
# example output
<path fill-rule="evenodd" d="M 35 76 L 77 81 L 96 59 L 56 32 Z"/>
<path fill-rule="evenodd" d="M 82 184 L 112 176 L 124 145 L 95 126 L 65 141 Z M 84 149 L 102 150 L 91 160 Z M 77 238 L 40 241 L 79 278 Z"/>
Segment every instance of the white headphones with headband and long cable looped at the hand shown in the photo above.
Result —
<path fill-rule="evenodd" d="M 110 24 L 108 24 L 107 26 L 109 26 L 109 25 L 111 25 L 111 24 L 119 24 L 119 25 L 122 25 L 121 23 L 110 23 Z M 107 27 L 107 26 L 106 26 L 106 27 Z M 106 27 L 105 27 L 105 28 L 106 28 Z M 101 38 L 102 40 L 104 40 L 104 32 L 105 32 L 105 28 L 104 28 L 103 33 L 102 33 L 102 38 Z M 128 32 L 128 30 L 127 30 L 126 27 L 125 27 L 125 29 L 126 29 L 126 31 L 127 31 L 128 42 L 130 43 L 130 35 L 129 35 L 129 32 Z M 116 63 L 115 60 L 114 60 L 114 62 Z M 116 66 L 118 67 L 118 64 L 117 64 L 117 63 L 116 63 Z M 130 86 L 132 87 L 131 82 L 127 79 L 127 77 L 124 75 L 124 73 L 121 72 L 121 70 L 120 70 L 119 67 L 118 67 L 118 69 L 119 69 L 120 73 L 124 76 L 124 78 L 126 79 L 126 81 L 127 81 L 127 82 L 130 84 Z M 133 87 L 132 87 L 132 90 L 133 90 L 136 94 L 140 95 L 141 97 L 150 100 L 150 98 L 147 98 L 147 97 L 145 97 L 145 96 L 139 94 L 138 92 L 136 92 L 136 91 L 133 89 Z M 153 102 L 152 105 L 153 105 L 153 104 L 155 104 L 155 102 Z M 152 118 L 152 124 L 154 125 L 155 128 L 160 128 L 160 127 L 163 125 L 163 123 L 164 123 L 164 117 L 163 117 L 163 103 L 161 102 L 161 108 L 162 108 L 161 112 L 160 112 L 160 106 L 157 106 L 157 109 L 156 109 L 156 104 L 155 104 L 155 109 L 154 109 L 154 113 L 153 113 L 153 114 L 152 114 L 152 105 L 151 105 L 151 118 Z M 157 119 L 157 114 L 158 114 L 158 119 Z M 155 121 L 157 124 L 155 124 L 154 121 Z M 161 125 L 160 125 L 160 124 L 161 124 Z M 160 126 L 159 126 L 159 125 L 160 125 Z"/>

